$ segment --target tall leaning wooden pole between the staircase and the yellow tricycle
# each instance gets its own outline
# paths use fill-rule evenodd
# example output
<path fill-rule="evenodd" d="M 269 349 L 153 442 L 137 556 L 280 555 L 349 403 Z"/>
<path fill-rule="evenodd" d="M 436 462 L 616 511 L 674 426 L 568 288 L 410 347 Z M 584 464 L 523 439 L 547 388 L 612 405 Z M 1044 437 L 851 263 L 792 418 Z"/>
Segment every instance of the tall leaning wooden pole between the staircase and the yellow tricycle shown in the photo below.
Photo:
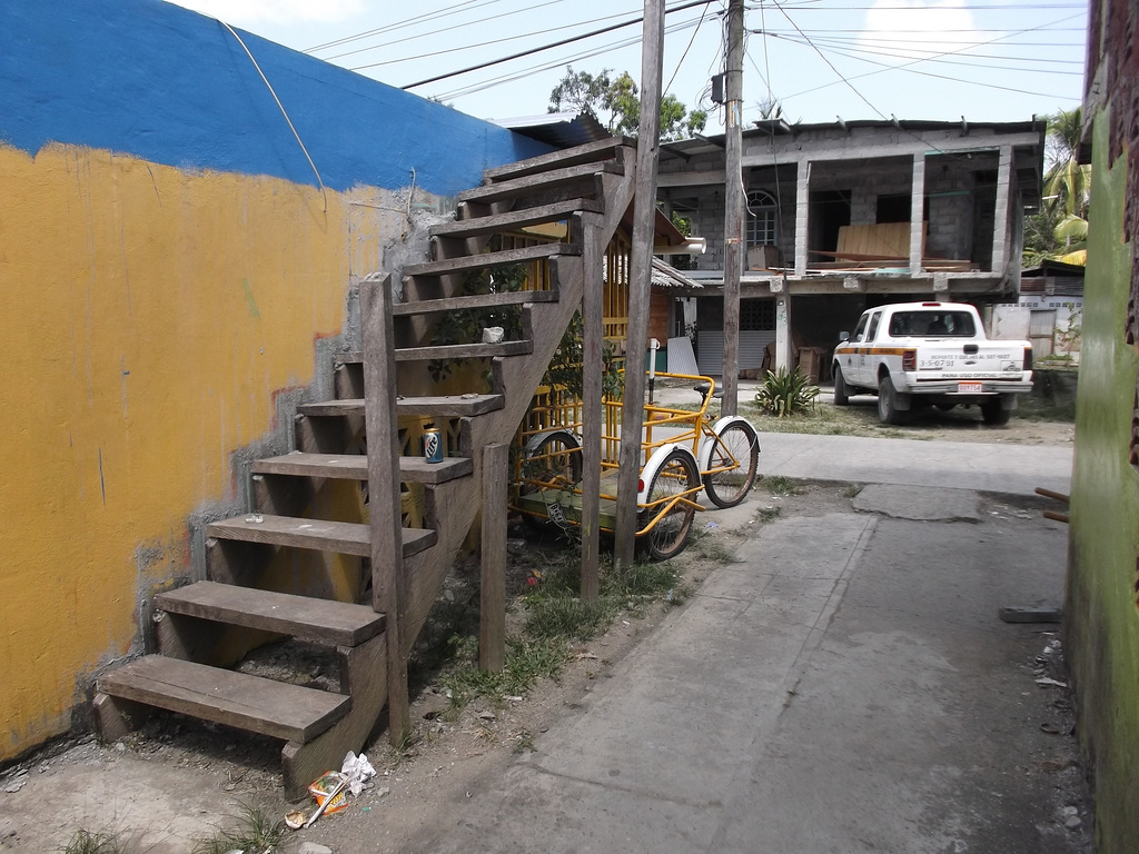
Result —
<path fill-rule="evenodd" d="M 645 0 L 644 26 L 629 328 L 625 334 L 625 392 L 621 410 L 621 468 L 617 473 L 617 529 L 613 556 L 617 569 L 632 565 L 637 536 L 637 481 L 640 476 L 641 424 L 645 420 L 645 350 L 648 346 L 648 306 L 653 281 L 656 166 L 661 157 L 664 0 Z"/>

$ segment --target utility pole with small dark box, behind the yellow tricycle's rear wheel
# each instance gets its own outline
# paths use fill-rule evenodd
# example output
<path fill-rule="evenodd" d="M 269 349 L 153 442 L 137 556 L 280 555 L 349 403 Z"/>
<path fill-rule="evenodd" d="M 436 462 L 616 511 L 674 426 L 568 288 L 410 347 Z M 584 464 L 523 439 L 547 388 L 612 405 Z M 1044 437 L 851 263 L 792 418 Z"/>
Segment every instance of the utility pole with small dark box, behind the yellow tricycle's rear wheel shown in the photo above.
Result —
<path fill-rule="evenodd" d="M 736 414 L 739 396 L 739 280 L 744 274 L 744 0 L 728 2 L 728 66 L 724 74 L 723 402 Z"/>

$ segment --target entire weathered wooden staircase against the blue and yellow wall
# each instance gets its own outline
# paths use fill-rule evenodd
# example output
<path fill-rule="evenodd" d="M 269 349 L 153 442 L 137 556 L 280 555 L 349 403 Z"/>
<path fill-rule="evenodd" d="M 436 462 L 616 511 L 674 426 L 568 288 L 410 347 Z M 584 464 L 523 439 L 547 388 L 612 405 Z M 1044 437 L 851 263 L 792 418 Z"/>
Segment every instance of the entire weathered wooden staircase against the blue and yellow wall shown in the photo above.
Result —
<path fill-rule="evenodd" d="M 432 261 L 404 268 L 402 299 L 392 277 L 362 284 L 363 352 L 338 366 L 337 399 L 300 407 L 295 452 L 253 463 L 253 512 L 208 525 L 210 581 L 157 597 L 157 652 L 98 679 L 105 739 L 138 726 L 151 707 L 284 739 L 286 795 L 300 798 L 361 749 L 385 705 L 393 741 L 408 732 L 407 659 L 480 510 L 482 449 L 511 441 L 585 282 L 600 281 L 585 260 L 604 254 L 629 206 L 634 165 L 632 145 L 612 139 L 490 170 L 482 187 L 460 194 L 457 219 L 432 228 Z M 495 235 L 555 222 L 566 223 L 565 243 L 484 251 Z M 544 289 L 460 293 L 472 271 L 535 261 L 547 262 Z M 521 339 L 431 345 L 443 313 L 505 305 L 519 306 Z M 460 358 L 490 360 L 489 389 L 413 394 L 426 387 L 426 363 Z M 452 426 L 443 462 L 400 453 L 401 422 L 423 419 Z M 367 484 L 367 523 L 319 516 L 317 499 L 337 482 Z M 405 526 L 410 491 L 421 495 L 418 527 Z M 295 589 L 263 589 L 289 586 L 288 573 L 267 584 L 265 567 L 296 551 L 370 566 L 370 596 L 367 580 L 355 601 L 328 596 L 333 584 L 323 594 L 295 580 Z M 334 650 L 338 691 L 231 670 L 279 638 Z"/>

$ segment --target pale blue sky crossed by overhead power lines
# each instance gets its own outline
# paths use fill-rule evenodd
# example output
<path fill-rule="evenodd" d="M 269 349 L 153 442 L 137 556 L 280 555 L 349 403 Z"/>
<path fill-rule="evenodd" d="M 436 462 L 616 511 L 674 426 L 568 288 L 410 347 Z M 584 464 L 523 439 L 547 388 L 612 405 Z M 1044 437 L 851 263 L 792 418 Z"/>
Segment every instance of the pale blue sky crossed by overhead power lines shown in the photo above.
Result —
<path fill-rule="evenodd" d="M 178 0 L 270 41 L 489 120 L 547 112 L 574 71 L 640 80 L 640 0 Z M 690 7 L 680 9 L 679 7 Z M 707 109 L 727 0 L 666 0 L 664 91 Z M 744 120 L 1021 122 L 1080 105 L 1084 0 L 746 0 Z M 442 80 L 423 83 L 439 75 Z M 745 125 L 746 126 L 746 125 Z"/>

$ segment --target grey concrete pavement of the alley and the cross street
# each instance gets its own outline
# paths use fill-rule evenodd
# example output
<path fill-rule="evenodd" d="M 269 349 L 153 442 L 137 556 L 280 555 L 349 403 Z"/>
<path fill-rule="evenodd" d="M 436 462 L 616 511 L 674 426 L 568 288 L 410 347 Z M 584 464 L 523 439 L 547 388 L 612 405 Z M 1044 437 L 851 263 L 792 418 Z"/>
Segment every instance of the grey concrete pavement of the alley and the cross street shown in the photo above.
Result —
<path fill-rule="evenodd" d="M 762 441 L 765 474 L 880 485 L 749 528 L 583 714 L 401 851 L 1090 851 L 1033 672 L 1057 626 L 997 616 L 1059 605 L 1066 528 L 976 492 L 1066 491 L 1070 450 Z"/>

